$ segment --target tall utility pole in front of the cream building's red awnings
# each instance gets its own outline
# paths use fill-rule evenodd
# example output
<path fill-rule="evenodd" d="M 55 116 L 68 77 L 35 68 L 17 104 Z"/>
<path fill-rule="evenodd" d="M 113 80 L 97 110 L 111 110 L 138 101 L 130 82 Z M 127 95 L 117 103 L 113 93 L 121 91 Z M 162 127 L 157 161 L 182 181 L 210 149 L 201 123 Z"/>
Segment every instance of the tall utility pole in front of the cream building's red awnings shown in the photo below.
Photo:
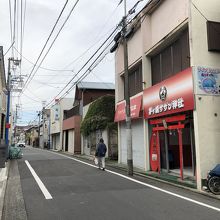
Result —
<path fill-rule="evenodd" d="M 124 47 L 124 85 L 125 85 L 125 101 L 126 101 L 126 143 L 127 143 L 127 165 L 128 175 L 133 175 L 133 152 L 132 152 L 132 134 L 131 134 L 131 114 L 130 114 L 130 92 L 128 78 L 128 47 L 126 39 L 127 31 L 127 11 L 126 0 L 124 0 L 124 17 L 122 19 L 122 38 Z"/>

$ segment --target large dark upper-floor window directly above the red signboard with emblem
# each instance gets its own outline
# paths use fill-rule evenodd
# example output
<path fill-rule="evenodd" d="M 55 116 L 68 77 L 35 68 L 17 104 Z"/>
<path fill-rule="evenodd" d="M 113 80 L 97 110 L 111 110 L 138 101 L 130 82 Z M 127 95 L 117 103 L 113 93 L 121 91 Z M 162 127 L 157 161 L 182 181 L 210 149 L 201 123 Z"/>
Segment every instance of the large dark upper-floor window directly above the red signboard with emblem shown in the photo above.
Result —
<path fill-rule="evenodd" d="M 155 85 L 170 76 L 190 67 L 188 30 L 179 38 L 151 58 L 152 84 Z"/>

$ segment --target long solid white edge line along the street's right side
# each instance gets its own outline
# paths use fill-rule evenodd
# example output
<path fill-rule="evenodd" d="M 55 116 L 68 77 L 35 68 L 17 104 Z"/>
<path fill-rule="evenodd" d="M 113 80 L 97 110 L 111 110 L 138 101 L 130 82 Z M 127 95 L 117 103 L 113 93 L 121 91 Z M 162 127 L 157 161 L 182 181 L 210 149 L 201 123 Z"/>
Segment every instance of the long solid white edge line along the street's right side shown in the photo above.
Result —
<path fill-rule="evenodd" d="M 75 161 L 77 161 L 77 162 L 79 162 L 79 163 L 83 163 L 83 164 L 86 164 L 86 165 L 88 165 L 88 166 L 97 168 L 97 166 L 95 166 L 95 165 L 93 165 L 93 164 L 89 164 L 89 163 L 87 163 L 87 162 L 84 162 L 84 161 L 75 159 L 75 158 L 73 158 L 73 157 L 69 157 L 69 156 L 66 156 L 66 155 L 63 155 L 63 154 L 59 154 L 59 153 L 56 153 L 56 152 L 52 152 L 52 151 L 50 151 L 50 152 L 51 152 L 51 153 L 54 153 L 54 154 L 56 154 L 56 155 L 60 155 L 60 156 L 69 158 L 69 159 L 71 159 L 71 160 L 75 160 Z M 125 175 L 120 174 L 120 173 L 116 173 L 116 172 L 111 171 L 111 170 L 106 170 L 106 172 L 115 174 L 115 175 L 117 175 L 117 176 L 120 176 L 120 177 L 122 177 L 122 178 L 124 178 L 124 179 L 130 180 L 130 181 L 132 181 L 132 182 L 135 182 L 135 183 L 138 183 L 138 184 L 147 186 L 147 187 L 149 187 L 149 188 L 151 188 L 151 189 L 154 189 L 154 190 L 157 190 L 157 191 L 160 191 L 160 192 L 169 194 L 169 195 L 171 195 L 171 196 L 174 196 L 174 197 L 177 197 L 177 198 L 180 198 L 180 199 L 183 199 L 183 200 L 186 200 L 186 201 L 195 203 L 195 204 L 197 204 L 197 205 L 200 205 L 200 206 L 203 206 L 203 207 L 206 207 L 206 208 L 209 208 L 209 209 L 213 209 L 213 210 L 215 210 L 215 211 L 220 212 L 220 208 L 217 208 L 217 207 L 215 207 L 215 206 L 211 206 L 211 205 L 205 204 L 205 203 L 203 203 L 203 202 L 199 202 L 199 201 L 197 201 L 197 200 L 190 199 L 190 198 L 188 198 L 188 197 L 186 197 L 186 196 L 181 196 L 181 195 L 179 195 L 179 194 L 170 192 L 170 191 L 168 191 L 168 190 L 161 189 L 161 188 L 159 188 L 159 187 L 156 187 L 156 186 L 153 186 L 153 185 L 150 185 L 150 184 L 141 182 L 141 181 L 139 181 L 139 180 L 135 180 L 135 179 L 133 179 L 133 178 L 131 178 L 131 177 L 125 176 Z"/>

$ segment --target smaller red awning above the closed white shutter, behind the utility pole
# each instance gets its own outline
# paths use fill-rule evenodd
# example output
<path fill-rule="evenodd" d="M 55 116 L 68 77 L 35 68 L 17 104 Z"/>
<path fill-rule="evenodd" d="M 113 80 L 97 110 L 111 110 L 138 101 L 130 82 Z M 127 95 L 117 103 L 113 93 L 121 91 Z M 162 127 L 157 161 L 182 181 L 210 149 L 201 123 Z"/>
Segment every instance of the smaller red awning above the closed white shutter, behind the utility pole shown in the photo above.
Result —
<path fill-rule="evenodd" d="M 131 118 L 139 118 L 141 110 L 142 95 L 130 99 Z M 115 122 L 126 119 L 125 101 L 118 103 L 115 111 Z"/>

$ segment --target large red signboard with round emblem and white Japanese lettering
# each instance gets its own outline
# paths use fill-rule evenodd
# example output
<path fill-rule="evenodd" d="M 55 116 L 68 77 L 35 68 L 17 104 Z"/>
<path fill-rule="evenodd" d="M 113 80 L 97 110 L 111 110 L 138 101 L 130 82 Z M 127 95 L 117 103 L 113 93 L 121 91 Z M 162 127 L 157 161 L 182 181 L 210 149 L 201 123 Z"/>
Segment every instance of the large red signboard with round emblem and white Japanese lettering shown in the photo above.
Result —
<path fill-rule="evenodd" d="M 144 118 L 194 109 L 192 68 L 188 68 L 148 89 L 143 94 Z"/>

